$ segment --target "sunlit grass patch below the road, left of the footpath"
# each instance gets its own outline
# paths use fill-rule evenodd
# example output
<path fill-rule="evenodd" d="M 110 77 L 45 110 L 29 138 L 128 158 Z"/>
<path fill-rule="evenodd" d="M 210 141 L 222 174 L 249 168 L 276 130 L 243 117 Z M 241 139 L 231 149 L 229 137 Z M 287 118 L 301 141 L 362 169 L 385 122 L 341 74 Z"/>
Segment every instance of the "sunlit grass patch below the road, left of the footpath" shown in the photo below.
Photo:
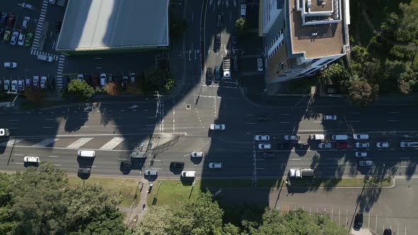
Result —
<path fill-rule="evenodd" d="M 84 180 L 77 176 L 68 176 L 69 185 L 78 185 L 83 183 Z M 131 178 L 106 178 L 106 177 L 90 177 L 86 180 L 86 183 L 96 183 L 101 185 L 105 190 L 114 193 L 115 195 L 121 195 L 122 202 L 120 206 L 130 207 L 132 202 L 134 205 L 140 201 L 140 188 L 138 188 L 139 180 Z M 144 189 L 145 189 L 144 185 Z"/>

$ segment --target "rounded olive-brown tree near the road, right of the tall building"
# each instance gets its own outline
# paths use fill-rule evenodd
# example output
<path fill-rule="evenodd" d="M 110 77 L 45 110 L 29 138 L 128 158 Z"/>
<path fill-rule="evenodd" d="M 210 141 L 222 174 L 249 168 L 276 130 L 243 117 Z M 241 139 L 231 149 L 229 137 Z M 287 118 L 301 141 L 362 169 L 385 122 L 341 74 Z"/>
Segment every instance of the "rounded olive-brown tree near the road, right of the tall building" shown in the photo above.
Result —
<path fill-rule="evenodd" d="M 356 105 L 365 106 L 373 101 L 375 91 L 373 91 L 372 86 L 365 79 L 358 78 L 358 75 L 354 75 L 351 78 L 349 94 L 351 101 Z"/>

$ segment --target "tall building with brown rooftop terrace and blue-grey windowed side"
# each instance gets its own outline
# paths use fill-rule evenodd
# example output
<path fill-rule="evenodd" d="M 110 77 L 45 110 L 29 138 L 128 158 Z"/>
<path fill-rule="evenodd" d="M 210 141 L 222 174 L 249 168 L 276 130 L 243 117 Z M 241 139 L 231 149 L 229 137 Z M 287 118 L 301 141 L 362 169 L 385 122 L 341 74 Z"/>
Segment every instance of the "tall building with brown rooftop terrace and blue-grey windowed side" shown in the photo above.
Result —
<path fill-rule="evenodd" d="M 260 0 L 266 83 L 312 76 L 349 50 L 349 0 Z"/>

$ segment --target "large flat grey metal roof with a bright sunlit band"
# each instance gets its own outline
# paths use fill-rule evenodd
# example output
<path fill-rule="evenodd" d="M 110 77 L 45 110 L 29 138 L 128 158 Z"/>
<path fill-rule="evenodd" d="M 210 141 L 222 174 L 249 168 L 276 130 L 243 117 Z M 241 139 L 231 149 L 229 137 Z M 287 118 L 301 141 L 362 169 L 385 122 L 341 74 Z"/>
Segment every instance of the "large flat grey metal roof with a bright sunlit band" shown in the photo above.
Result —
<path fill-rule="evenodd" d="M 57 50 L 169 45 L 169 0 L 69 0 Z"/>

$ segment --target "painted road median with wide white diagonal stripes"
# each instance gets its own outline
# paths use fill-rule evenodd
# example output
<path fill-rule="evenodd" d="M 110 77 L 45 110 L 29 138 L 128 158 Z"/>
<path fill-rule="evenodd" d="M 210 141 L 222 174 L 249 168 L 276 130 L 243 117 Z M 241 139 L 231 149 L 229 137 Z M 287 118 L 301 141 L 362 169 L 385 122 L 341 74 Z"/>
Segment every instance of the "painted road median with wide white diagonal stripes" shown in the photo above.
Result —
<path fill-rule="evenodd" d="M 125 142 L 125 144 L 122 144 Z M 9 139 L 0 142 L 0 147 L 34 147 L 60 149 L 97 149 L 97 150 L 132 150 L 132 145 L 123 137 L 80 137 L 80 138 L 41 138 L 41 139 Z"/>

